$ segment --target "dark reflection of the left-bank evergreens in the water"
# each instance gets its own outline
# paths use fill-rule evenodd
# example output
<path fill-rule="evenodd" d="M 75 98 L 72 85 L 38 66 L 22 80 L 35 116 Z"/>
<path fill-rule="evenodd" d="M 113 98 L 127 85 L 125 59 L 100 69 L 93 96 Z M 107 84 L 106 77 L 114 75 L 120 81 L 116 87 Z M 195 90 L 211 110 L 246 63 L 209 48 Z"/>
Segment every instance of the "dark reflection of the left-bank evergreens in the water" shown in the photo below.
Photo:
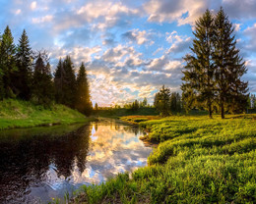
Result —
<path fill-rule="evenodd" d="M 29 186 L 44 180 L 51 163 L 58 177 L 71 175 L 76 158 L 80 172 L 84 172 L 89 135 L 90 126 L 85 126 L 61 136 L 0 141 L 0 203 L 8 202 L 7 196 L 9 202 L 21 198 Z"/>

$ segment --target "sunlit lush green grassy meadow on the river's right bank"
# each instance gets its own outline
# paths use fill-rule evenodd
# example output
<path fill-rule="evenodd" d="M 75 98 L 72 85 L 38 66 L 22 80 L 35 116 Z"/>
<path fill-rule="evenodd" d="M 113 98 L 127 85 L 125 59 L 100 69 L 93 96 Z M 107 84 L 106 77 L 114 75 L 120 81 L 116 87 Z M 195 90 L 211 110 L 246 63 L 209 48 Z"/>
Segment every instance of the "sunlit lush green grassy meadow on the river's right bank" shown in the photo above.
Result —
<path fill-rule="evenodd" d="M 83 186 L 74 203 L 253 203 L 256 115 L 169 117 L 140 125 L 160 145 L 149 166 Z"/>

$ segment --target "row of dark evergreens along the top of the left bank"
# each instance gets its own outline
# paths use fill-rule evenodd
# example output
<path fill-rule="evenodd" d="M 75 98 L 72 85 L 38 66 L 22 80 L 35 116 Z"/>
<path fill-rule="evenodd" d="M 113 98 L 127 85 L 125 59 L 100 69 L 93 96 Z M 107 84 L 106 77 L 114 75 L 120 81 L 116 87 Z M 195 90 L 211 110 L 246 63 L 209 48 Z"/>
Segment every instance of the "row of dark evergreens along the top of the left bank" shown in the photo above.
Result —
<path fill-rule="evenodd" d="M 26 30 L 18 45 L 9 26 L 0 36 L 0 100 L 20 98 L 43 106 L 56 102 L 90 115 L 93 109 L 85 65 L 75 74 L 69 56 L 54 74 L 46 51 L 33 52 Z"/>

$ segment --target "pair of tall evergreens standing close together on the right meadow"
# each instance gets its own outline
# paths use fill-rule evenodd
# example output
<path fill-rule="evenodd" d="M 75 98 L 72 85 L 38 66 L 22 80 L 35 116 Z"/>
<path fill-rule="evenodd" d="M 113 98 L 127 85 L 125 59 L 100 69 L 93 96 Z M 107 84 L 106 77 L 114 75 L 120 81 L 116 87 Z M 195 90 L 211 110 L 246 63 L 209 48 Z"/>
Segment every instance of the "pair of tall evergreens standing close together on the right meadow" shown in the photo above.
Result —
<path fill-rule="evenodd" d="M 225 113 L 244 112 L 248 101 L 248 82 L 244 60 L 236 48 L 234 26 L 224 14 L 209 10 L 195 24 L 192 53 L 184 58 L 184 81 L 181 85 L 185 107 L 201 106 L 209 111 Z"/>

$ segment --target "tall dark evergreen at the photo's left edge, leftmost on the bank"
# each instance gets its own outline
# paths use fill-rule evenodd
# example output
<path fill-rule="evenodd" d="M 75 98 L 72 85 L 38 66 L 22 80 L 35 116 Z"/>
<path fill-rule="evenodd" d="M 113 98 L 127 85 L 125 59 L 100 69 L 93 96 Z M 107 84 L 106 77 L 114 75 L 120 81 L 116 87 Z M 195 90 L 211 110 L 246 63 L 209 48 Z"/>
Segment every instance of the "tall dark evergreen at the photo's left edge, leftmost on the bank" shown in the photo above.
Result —
<path fill-rule="evenodd" d="M 14 78 L 13 74 L 17 70 L 15 54 L 16 47 L 14 38 L 11 29 L 9 26 L 6 26 L 2 35 L 0 47 L 0 91 L 3 94 L 1 98 L 12 97 L 14 92 L 16 92 L 15 87 L 12 84 Z M 4 89 L 1 88 L 1 83 L 4 85 Z"/>

